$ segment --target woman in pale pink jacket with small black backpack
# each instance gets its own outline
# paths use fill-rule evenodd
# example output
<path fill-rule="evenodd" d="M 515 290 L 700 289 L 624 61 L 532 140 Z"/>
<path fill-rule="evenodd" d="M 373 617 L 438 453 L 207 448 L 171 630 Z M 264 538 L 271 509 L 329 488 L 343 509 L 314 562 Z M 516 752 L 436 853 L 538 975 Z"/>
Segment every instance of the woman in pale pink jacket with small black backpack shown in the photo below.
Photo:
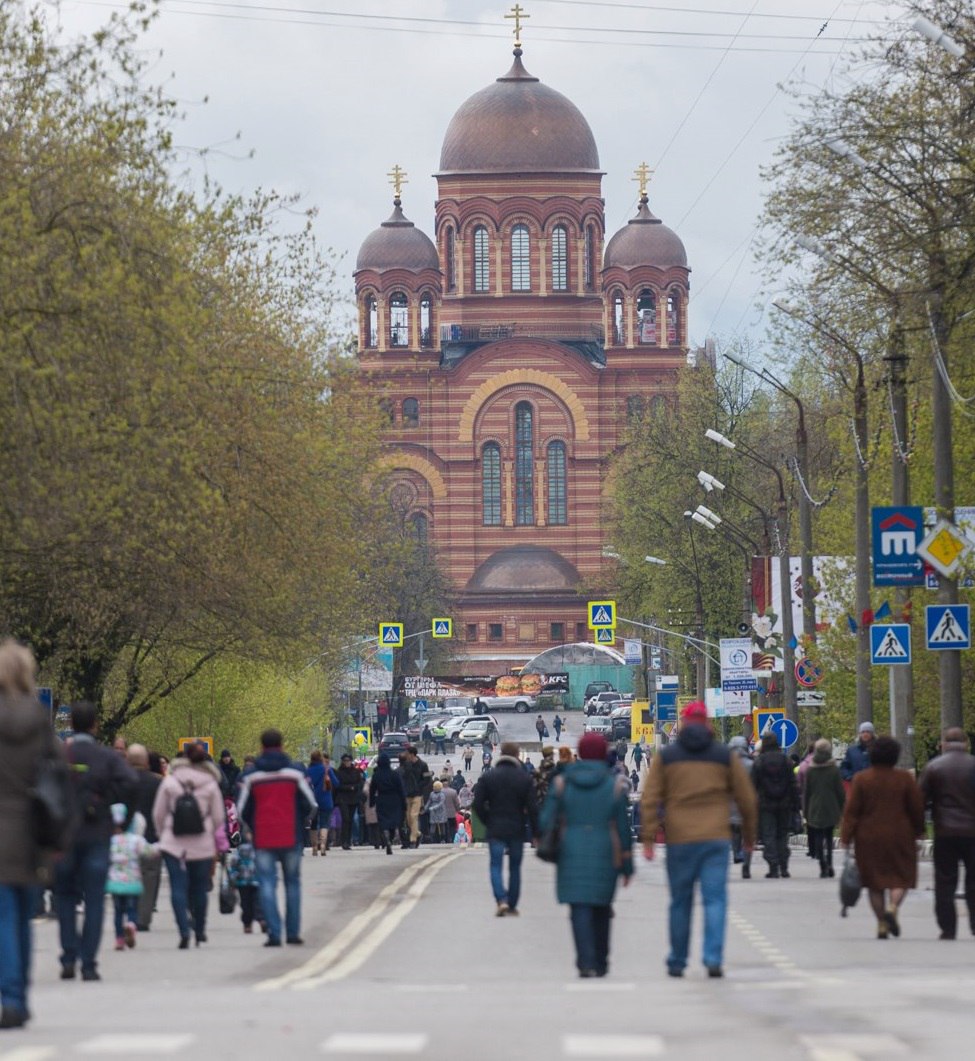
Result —
<path fill-rule="evenodd" d="M 180 951 L 190 945 L 191 924 L 196 945 L 207 941 L 207 892 L 216 857 L 216 832 L 225 822 L 220 770 L 207 762 L 205 745 L 185 745 L 170 764 L 153 804 Z"/>

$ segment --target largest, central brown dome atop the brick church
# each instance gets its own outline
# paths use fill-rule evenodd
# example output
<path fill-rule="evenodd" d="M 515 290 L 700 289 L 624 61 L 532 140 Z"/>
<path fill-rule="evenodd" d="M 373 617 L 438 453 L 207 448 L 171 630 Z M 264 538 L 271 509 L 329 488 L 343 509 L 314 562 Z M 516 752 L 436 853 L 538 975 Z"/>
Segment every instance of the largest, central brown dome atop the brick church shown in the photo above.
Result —
<path fill-rule="evenodd" d="M 440 152 L 440 172 L 598 172 L 589 123 L 561 92 L 547 88 L 521 64 L 475 92 L 454 115 Z"/>

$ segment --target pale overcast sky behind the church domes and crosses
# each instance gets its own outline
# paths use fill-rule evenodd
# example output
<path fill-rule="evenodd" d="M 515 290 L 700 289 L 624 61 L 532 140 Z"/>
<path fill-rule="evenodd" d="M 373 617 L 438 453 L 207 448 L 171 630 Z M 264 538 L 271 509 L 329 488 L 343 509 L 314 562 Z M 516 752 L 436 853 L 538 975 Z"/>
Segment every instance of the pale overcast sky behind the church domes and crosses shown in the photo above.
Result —
<path fill-rule="evenodd" d="M 858 39 L 900 6 L 882 0 L 522 0 L 527 70 L 568 95 L 599 151 L 607 238 L 632 216 L 632 173 L 656 174 L 650 209 L 692 267 L 691 341 L 747 333 L 764 311 L 752 240 L 759 170 L 807 91 L 838 76 Z M 70 30 L 111 4 L 66 0 Z M 386 173 L 408 174 L 407 216 L 433 236 L 440 146 L 454 111 L 506 72 L 504 0 L 166 0 L 149 41 L 153 76 L 188 110 L 177 140 L 217 149 L 207 166 L 231 190 L 297 192 L 319 240 L 345 255 L 391 208 Z M 903 24 L 903 23 L 902 23 Z M 208 102 L 204 103 L 204 98 Z M 240 133 L 240 141 L 234 141 Z M 222 150 L 221 150 L 222 149 Z M 248 158 L 248 151 L 254 157 Z"/>

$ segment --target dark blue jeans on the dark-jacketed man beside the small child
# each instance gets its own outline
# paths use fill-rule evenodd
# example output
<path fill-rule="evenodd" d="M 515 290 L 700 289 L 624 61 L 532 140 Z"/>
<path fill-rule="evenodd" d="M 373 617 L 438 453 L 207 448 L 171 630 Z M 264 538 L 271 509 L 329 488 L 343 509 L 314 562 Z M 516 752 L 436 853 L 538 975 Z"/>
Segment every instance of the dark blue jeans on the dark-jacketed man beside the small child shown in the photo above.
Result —
<path fill-rule="evenodd" d="M 60 963 L 94 971 L 102 922 L 105 918 L 105 881 L 108 879 L 108 840 L 75 843 L 54 868 L 54 904 L 60 927 Z M 85 904 L 81 941 L 75 908 Z"/>

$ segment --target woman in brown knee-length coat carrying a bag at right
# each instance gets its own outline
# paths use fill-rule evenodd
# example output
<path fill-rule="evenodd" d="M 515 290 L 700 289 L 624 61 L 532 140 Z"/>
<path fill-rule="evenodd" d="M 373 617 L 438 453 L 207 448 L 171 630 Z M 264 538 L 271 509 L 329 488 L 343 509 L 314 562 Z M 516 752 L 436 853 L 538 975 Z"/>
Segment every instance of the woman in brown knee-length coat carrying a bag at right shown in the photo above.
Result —
<path fill-rule="evenodd" d="M 898 910 L 917 887 L 916 840 L 924 835 L 924 799 L 910 773 L 895 768 L 900 754 L 891 736 L 870 742 L 870 766 L 853 778 L 840 831 L 843 847 L 853 845 L 877 939 L 901 935 Z"/>

